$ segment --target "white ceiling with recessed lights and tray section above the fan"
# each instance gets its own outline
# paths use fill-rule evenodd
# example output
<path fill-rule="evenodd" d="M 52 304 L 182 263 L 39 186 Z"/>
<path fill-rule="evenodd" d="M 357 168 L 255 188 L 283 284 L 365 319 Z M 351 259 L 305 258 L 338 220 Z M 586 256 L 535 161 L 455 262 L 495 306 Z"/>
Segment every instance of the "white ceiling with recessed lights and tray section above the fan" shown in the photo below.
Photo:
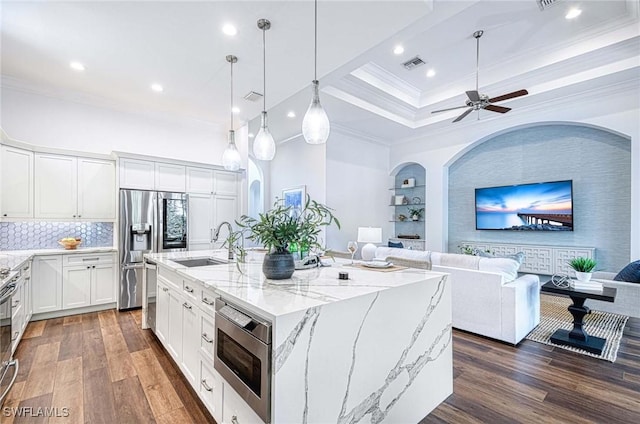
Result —
<path fill-rule="evenodd" d="M 566 20 L 570 7 L 582 15 Z M 557 96 L 604 88 L 640 75 L 638 0 L 331 1 L 318 5 L 318 76 L 332 128 L 391 144 L 452 124 L 475 89 L 490 97 L 525 88 L 501 103 L 535 108 Z M 300 132 L 313 77 L 313 2 L 2 1 L 3 85 L 29 87 L 111 107 L 169 113 L 229 125 L 229 64 L 239 120 L 257 127 L 262 92 L 262 32 L 267 40 L 267 109 L 277 140 Z M 224 22 L 238 35 L 225 36 Z M 405 52 L 394 55 L 402 44 Z M 402 62 L 426 63 L 407 71 Z M 83 62 L 78 74 L 68 64 Z M 433 67 L 436 75 L 425 76 Z M 162 94 L 149 89 L 165 87 Z M 289 110 L 297 117 L 286 118 Z M 491 118 L 498 114 L 482 111 Z M 467 118 L 471 119 L 471 118 Z M 238 123 L 236 121 L 236 126 Z"/>

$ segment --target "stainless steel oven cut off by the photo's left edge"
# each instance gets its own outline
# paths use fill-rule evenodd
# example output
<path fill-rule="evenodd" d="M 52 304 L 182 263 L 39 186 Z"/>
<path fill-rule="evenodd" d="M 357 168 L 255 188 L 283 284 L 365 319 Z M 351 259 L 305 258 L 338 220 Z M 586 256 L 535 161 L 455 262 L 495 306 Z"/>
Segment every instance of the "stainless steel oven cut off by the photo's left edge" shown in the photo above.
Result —
<path fill-rule="evenodd" d="M 16 291 L 18 278 L 19 276 L 11 277 L 9 283 L 0 290 L 0 406 L 18 375 L 18 360 L 11 359 L 11 297 Z"/>

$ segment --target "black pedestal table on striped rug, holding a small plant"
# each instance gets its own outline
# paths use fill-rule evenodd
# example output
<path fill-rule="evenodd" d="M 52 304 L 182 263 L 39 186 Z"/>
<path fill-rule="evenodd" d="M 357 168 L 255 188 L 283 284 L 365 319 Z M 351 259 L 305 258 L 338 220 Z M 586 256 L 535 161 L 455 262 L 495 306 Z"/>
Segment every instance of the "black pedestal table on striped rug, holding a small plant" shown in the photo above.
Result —
<path fill-rule="evenodd" d="M 580 290 L 572 287 L 558 287 L 551 281 L 542 285 L 540 289 L 543 292 L 561 294 L 569 296 L 573 301 L 569 305 L 569 312 L 573 315 L 573 329 L 571 331 L 558 329 L 551 335 L 551 342 L 559 345 L 572 346 L 584 349 L 587 352 L 601 355 L 604 349 L 606 339 L 594 337 L 584 331 L 584 316 L 591 313 L 591 310 L 584 306 L 587 299 L 603 300 L 605 302 L 613 302 L 616 298 L 616 289 L 612 287 L 604 287 L 602 291 Z"/>

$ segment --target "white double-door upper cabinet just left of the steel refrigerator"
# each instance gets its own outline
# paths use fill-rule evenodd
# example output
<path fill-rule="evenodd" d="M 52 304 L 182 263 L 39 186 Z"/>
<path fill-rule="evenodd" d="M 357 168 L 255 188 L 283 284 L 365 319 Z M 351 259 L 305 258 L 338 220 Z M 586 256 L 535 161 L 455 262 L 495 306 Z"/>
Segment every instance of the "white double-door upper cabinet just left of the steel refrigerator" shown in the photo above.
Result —
<path fill-rule="evenodd" d="M 115 219 L 115 166 L 111 161 L 35 154 L 35 217 Z"/>

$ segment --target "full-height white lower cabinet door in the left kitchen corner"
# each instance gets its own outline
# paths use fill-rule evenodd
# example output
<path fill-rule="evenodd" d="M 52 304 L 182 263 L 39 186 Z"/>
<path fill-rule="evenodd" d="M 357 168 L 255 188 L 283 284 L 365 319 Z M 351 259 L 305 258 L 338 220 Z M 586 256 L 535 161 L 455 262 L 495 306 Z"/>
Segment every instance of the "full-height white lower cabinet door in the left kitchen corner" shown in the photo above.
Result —
<path fill-rule="evenodd" d="M 62 256 L 38 256 L 33 260 L 31 304 L 33 313 L 62 309 Z"/>

